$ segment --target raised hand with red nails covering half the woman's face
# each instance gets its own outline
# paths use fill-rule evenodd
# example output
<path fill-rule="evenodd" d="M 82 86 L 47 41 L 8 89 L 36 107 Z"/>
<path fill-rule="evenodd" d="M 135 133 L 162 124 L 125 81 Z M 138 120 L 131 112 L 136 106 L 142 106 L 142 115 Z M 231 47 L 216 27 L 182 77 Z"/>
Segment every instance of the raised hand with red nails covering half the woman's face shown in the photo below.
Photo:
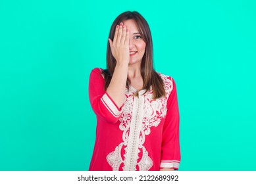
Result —
<path fill-rule="evenodd" d="M 129 31 L 121 22 L 116 26 L 116 32 L 113 41 L 109 38 L 109 45 L 116 64 L 128 64 L 130 60 L 129 53 Z"/>

